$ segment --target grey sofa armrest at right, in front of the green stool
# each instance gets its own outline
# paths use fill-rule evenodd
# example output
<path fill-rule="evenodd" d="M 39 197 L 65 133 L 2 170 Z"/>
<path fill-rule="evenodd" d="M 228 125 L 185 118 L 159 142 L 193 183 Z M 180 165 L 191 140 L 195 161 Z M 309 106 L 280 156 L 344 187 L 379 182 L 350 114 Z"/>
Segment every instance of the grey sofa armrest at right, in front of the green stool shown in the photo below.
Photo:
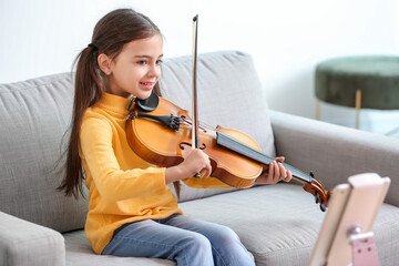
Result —
<path fill-rule="evenodd" d="M 359 173 L 391 178 L 386 202 L 399 206 L 399 139 L 270 111 L 277 155 L 307 173 L 325 190 Z"/>

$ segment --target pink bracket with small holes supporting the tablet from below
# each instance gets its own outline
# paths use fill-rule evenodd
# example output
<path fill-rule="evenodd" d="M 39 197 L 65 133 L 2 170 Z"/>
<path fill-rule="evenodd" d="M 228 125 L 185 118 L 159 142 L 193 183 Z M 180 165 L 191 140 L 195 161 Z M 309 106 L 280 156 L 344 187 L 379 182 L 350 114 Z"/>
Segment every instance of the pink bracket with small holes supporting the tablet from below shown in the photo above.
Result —
<path fill-rule="evenodd" d="M 359 227 L 356 228 L 349 236 L 352 247 L 352 266 L 379 266 L 374 233 L 359 233 Z"/>

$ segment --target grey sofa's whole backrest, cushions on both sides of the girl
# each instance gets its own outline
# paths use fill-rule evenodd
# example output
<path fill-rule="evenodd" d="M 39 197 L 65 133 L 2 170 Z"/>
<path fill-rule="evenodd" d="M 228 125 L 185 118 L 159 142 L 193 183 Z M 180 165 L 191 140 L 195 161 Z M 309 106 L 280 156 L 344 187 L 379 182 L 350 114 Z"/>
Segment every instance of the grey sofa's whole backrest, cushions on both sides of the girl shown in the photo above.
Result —
<path fill-rule="evenodd" d="M 200 120 L 242 130 L 274 155 L 267 103 L 252 58 L 242 52 L 200 54 L 197 71 Z M 186 110 L 191 76 L 191 57 L 164 60 L 162 93 Z M 55 190 L 64 173 L 64 160 L 57 163 L 68 141 L 72 104 L 71 73 L 0 84 L 1 212 L 59 232 L 84 226 L 86 200 Z M 183 187 L 181 201 L 222 192 Z"/>

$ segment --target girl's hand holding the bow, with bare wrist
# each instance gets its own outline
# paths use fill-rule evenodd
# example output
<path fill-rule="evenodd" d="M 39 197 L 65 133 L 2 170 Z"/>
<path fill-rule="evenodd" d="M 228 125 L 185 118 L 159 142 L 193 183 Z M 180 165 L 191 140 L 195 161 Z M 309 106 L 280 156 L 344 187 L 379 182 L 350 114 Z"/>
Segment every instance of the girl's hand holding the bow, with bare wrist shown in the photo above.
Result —
<path fill-rule="evenodd" d="M 165 170 L 166 184 L 193 177 L 196 173 L 202 173 L 203 177 L 208 177 L 212 172 L 209 156 L 198 149 L 194 149 L 185 156 L 184 161 Z"/>

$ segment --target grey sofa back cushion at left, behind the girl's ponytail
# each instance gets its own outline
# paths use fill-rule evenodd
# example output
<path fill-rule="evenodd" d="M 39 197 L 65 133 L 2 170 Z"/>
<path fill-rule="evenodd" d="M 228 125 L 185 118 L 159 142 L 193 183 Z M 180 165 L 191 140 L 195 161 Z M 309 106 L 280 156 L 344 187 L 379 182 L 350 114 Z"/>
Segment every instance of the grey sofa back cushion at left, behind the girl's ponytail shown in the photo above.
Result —
<path fill-rule="evenodd" d="M 0 84 L 0 209 L 59 232 L 81 228 L 88 209 L 55 190 L 72 103 L 69 73 Z"/>

